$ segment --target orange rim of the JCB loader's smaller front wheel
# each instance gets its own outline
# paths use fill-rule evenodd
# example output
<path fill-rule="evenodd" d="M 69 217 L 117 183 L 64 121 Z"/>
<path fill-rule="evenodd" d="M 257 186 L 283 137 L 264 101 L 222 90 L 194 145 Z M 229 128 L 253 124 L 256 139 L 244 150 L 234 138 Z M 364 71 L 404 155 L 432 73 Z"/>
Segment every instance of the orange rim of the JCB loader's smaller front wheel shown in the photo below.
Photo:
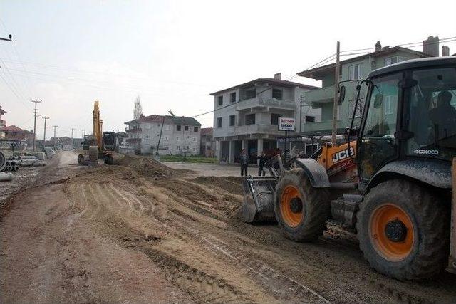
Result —
<path fill-rule="evenodd" d="M 303 208 L 304 206 L 298 188 L 292 185 L 286 186 L 280 199 L 280 210 L 285 224 L 290 227 L 298 226 L 304 217 Z"/>

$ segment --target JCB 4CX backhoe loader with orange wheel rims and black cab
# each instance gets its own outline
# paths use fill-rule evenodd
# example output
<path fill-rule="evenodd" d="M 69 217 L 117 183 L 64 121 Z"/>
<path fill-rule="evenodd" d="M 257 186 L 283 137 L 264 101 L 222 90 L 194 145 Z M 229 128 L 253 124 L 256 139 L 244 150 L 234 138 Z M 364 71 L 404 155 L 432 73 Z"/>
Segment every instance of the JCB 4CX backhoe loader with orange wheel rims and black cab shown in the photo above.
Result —
<path fill-rule="evenodd" d="M 331 221 L 356 233 L 380 273 L 421 279 L 445 266 L 456 273 L 456 58 L 374 70 L 358 82 L 355 109 L 363 85 L 356 140 L 349 134 L 273 177 L 244 179 L 242 220 L 275 217 L 294 241 L 318 238 Z M 340 102 L 344 95 L 342 86 Z"/>

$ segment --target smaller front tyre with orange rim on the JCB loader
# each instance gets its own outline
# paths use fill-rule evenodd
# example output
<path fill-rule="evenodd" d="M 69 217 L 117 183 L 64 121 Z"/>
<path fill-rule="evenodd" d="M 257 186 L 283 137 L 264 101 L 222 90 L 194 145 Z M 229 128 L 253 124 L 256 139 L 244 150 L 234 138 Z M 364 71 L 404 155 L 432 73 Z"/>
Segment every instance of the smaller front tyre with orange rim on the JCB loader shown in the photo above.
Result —
<path fill-rule="evenodd" d="M 280 179 L 274 201 L 277 222 L 288 239 L 313 241 L 323 234 L 331 214 L 329 193 L 312 187 L 302 169 Z"/>

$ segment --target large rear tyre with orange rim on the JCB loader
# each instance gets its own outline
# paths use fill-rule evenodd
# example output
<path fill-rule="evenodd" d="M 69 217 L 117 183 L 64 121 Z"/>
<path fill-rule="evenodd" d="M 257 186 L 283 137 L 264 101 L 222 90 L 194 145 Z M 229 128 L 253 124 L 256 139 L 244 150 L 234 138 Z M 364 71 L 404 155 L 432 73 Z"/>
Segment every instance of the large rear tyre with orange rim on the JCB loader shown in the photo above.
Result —
<path fill-rule="evenodd" d="M 400 280 L 430 278 L 447 264 L 449 214 L 445 201 L 417 184 L 383 182 L 360 204 L 360 248 L 380 273 Z"/>

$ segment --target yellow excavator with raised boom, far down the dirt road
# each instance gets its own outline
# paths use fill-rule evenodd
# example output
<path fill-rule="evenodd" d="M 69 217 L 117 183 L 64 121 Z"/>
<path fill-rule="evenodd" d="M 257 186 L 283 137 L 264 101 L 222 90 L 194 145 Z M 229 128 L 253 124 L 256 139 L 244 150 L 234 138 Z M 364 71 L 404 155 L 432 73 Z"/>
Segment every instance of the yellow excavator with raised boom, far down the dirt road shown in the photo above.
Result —
<path fill-rule="evenodd" d="M 79 164 L 96 164 L 104 159 L 105 164 L 113 164 L 115 151 L 115 132 L 103 132 L 98 100 L 93 104 L 93 132 L 84 138 L 83 152 L 78 155 Z"/>

